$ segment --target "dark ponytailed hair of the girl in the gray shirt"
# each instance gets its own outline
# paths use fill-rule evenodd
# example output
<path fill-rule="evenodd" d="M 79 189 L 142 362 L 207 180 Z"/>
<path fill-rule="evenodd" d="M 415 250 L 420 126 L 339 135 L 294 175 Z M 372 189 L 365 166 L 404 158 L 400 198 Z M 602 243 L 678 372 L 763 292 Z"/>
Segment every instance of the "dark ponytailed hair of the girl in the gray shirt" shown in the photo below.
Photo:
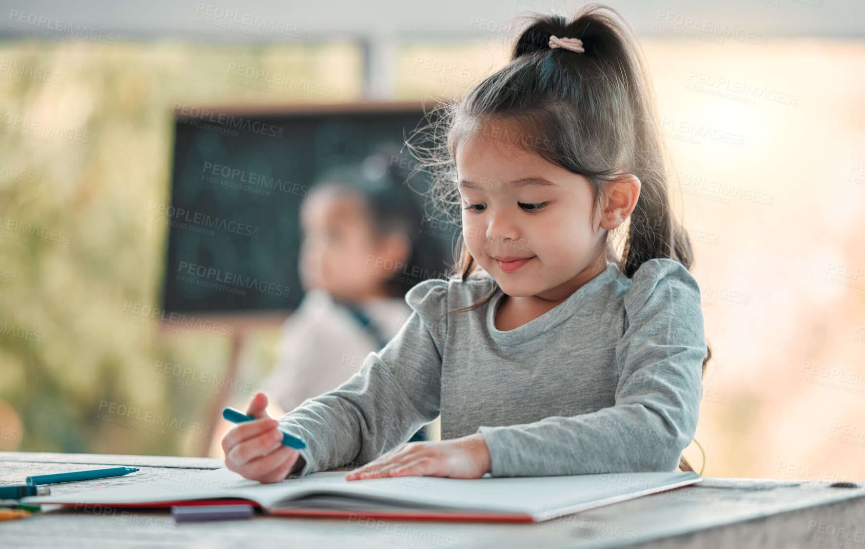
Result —
<path fill-rule="evenodd" d="M 549 38 L 579 38 L 585 52 L 551 49 Z M 667 189 L 663 139 L 657 130 L 654 93 L 638 41 L 618 11 L 591 3 L 573 19 L 534 14 L 516 40 L 507 66 L 493 73 L 464 99 L 439 104 L 430 124 L 407 143 L 419 159 L 415 171 L 432 176 L 432 202 L 459 223 L 455 150 L 465 139 L 529 150 L 557 166 L 585 176 L 593 188 L 594 206 L 603 198 L 603 184 L 630 173 L 641 182 L 629 222 L 612 233 L 625 232 L 621 257 L 606 239 L 606 257 L 631 278 L 649 259 L 674 259 L 690 270 L 690 239 L 675 219 Z M 493 128 L 493 131 L 488 130 Z M 411 141 L 411 140 L 410 140 Z M 595 208 L 593 207 L 593 215 Z M 477 271 L 460 234 L 450 276 L 461 280 Z M 463 312 L 487 303 L 497 290 Z M 708 348 L 708 343 L 707 343 Z M 703 359 L 703 373 L 711 357 Z"/>

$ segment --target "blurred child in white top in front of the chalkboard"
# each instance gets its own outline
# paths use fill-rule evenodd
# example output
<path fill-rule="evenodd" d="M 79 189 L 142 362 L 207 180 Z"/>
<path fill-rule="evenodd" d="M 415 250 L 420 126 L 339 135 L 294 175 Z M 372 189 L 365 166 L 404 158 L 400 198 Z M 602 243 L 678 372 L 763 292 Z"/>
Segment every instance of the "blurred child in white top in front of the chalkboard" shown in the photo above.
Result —
<path fill-rule="evenodd" d="M 290 411 L 336 388 L 411 315 L 406 291 L 445 271 L 423 242 L 413 191 L 388 175 L 387 156 L 330 171 L 301 204 L 298 269 L 305 294 L 282 326 L 279 358 L 264 383 Z M 412 441 L 426 439 L 426 427 Z"/>

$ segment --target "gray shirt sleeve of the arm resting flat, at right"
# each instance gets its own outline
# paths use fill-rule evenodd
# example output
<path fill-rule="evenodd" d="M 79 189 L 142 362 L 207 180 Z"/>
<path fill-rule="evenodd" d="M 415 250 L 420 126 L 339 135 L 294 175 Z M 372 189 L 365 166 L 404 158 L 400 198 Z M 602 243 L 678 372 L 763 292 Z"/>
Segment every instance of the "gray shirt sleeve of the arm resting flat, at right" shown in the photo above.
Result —
<path fill-rule="evenodd" d="M 700 288 L 673 259 L 650 259 L 625 292 L 615 405 L 487 427 L 492 476 L 675 470 L 694 437 L 706 354 Z"/>

